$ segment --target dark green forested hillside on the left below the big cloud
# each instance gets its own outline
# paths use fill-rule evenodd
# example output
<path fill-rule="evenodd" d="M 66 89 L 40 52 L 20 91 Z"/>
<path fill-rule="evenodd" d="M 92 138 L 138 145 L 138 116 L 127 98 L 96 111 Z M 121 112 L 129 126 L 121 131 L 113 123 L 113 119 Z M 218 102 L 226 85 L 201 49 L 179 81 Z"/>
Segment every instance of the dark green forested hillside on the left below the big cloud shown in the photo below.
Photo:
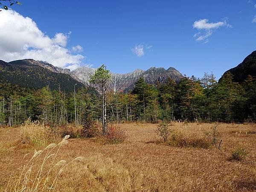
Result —
<path fill-rule="evenodd" d="M 85 85 L 69 74 L 49 70 L 49 66 L 35 64 L 32 59 L 24 59 L 6 63 L 0 61 L 0 81 L 28 89 L 41 89 L 49 86 L 52 90 L 73 91 L 74 84 L 78 88 Z M 53 66 L 52 66 L 53 67 Z"/>

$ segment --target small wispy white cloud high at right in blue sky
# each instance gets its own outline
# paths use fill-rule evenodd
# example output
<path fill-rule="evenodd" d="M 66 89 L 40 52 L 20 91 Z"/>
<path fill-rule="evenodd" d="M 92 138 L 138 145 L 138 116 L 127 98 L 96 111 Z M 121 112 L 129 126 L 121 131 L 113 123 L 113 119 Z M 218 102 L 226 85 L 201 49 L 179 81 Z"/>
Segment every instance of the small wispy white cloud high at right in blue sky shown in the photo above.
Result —
<path fill-rule="evenodd" d="M 232 27 L 227 23 L 227 18 L 216 23 L 209 23 L 208 19 L 196 20 L 193 24 L 193 28 L 198 29 L 200 32 L 195 33 L 194 38 L 196 38 L 196 41 L 204 41 L 204 43 L 208 43 L 212 33 L 222 26 L 226 26 L 227 28 Z"/>

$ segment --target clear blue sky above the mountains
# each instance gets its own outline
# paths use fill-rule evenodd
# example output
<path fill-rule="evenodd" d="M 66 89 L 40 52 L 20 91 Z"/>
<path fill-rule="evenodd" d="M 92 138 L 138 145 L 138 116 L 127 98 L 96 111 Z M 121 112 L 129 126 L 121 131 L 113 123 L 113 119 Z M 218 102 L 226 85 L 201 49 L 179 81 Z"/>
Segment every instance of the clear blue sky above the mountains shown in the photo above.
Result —
<path fill-rule="evenodd" d="M 13 9 L 49 38 L 64 34 L 61 46 L 84 57 L 79 65 L 104 63 L 114 73 L 175 67 L 187 76 L 212 71 L 219 78 L 256 50 L 254 0 L 48 2 L 23 0 Z"/>

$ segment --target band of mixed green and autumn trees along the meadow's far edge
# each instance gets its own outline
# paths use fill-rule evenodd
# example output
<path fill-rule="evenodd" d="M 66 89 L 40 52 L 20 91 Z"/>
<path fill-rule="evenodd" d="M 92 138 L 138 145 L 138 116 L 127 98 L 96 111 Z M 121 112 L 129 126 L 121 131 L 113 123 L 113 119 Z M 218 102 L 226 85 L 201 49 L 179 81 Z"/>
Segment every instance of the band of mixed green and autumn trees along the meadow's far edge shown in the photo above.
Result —
<path fill-rule="evenodd" d="M 96 83 L 99 94 L 90 93 L 88 88 L 76 90 L 76 85 L 73 93 L 50 90 L 48 86 L 30 93 L 23 90 L 22 94 L 2 89 L 0 125 L 17 126 L 28 118 L 45 125 L 86 125 L 93 120 L 102 124 L 256 121 L 256 80 L 252 76 L 241 84 L 233 82 L 231 73 L 225 73 L 218 82 L 212 73 L 205 73 L 201 79 L 185 76 L 179 82 L 167 79 L 155 85 L 140 78 L 129 93 L 114 93 L 108 90 L 109 73 L 104 66 L 100 68 L 90 80 Z"/>

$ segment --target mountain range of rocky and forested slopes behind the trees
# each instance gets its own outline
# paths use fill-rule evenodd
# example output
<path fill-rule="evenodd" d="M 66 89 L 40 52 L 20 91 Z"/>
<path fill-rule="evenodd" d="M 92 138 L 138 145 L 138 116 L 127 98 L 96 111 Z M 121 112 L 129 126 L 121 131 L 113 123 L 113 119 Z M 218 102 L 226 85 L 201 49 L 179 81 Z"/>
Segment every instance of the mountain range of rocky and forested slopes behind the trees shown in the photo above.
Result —
<path fill-rule="evenodd" d="M 70 71 L 33 59 L 11 62 L 0 60 L 0 90 L 4 90 L 7 84 L 8 87 L 16 87 L 15 89 L 18 87 L 40 89 L 48 85 L 51 89 L 71 92 L 75 84 L 77 88 L 90 86 L 89 79 L 95 71 L 96 69 L 89 67 L 79 67 Z M 233 74 L 235 82 L 243 82 L 248 75 L 255 79 L 256 51 L 248 55 L 237 67 L 227 70 L 225 73 L 227 72 Z M 173 67 L 169 67 L 167 70 L 163 67 L 151 67 L 148 70 L 136 69 L 125 74 L 111 73 L 110 88 L 127 93 L 133 89 L 135 82 L 140 77 L 144 78 L 148 84 L 162 83 L 169 78 L 180 81 L 183 78 L 182 74 Z"/>

